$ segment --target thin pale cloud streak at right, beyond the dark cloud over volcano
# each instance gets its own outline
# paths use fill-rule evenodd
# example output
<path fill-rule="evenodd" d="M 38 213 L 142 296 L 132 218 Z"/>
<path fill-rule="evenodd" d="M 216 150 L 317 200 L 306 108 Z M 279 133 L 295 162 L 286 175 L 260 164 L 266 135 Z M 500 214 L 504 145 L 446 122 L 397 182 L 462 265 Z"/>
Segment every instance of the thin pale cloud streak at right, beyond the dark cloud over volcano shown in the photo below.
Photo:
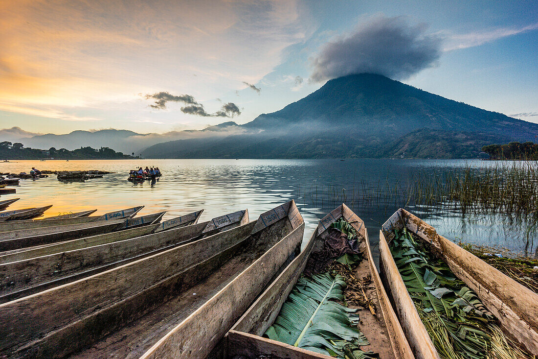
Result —
<path fill-rule="evenodd" d="M 480 46 L 501 38 L 513 36 L 519 33 L 538 29 L 538 23 L 521 27 L 500 27 L 498 29 L 489 29 L 474 31 L 463 34 L 445 33 L 443 51 L 453 51 L 468 49 L 469 47 Z"/>

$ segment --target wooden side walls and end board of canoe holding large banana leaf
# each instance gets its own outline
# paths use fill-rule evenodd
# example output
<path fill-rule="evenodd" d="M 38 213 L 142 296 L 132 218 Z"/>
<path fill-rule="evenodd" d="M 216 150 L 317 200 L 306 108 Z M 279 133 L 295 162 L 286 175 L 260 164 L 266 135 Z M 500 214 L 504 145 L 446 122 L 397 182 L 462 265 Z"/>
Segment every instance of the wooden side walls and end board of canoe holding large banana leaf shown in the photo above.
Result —
<path fill-rule="evenodd" d="M 328 355 L 318 354 L 310 350 L 264 338 L 263 335 L 277 318 L 280 308 L 288 298 L 301 273 L 305 270 L 308 259 L 316 248 L 316 242 L 318 242 L 317 237 L 325 232 L 339 218 L 344 218 L 350 223 L 364 241 L 368 240 L 364 222 L 344 204 L 321 219 L 312 237 L 310 237 L 310 240 L 299 256 L 286 267 L 279 277 L 259 296 L 246 313 L 230 329 L 230 332 L 226 335 L 226 345 L 224 346 L 226 352 L 220 354 L 221 356 L 224 358 L 233 358 L 243 355 L 248 358 L 255 358 L 259 355 L 271 354 L 275 359 L 331 358 Z M 366 251 L 370 251 L 369 245 L 366 246 Z M 375 266 L 373 266 L 371 253 L 367 257 L 373 284 L 378 287 L 380 282 L 376 280 L 376 276 L 379 277 L 379 275 Z M 377 298 L 383 312 L 383 317 L 380 318 L 380 321 L 384 322 L 384 327 L 387 329 L 387 334 L 390 337 L 391 350 L 389 351 L 397 358 L 413 358 L 414 356 L 397 317 L 392 310 L 390 302 L 388 302 L 388 297 L 386 294 L 385 296 L 379 294 L 384 293 L 382 289 L 383 287 L 377 288 Z"/>

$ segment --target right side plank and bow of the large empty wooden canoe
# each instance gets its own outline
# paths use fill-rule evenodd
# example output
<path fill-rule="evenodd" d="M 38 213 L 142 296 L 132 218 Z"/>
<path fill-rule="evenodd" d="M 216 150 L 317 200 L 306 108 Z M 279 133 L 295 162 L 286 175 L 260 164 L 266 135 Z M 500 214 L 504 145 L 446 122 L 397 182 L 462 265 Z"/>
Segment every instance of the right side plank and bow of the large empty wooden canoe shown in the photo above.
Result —
<path fill-rule="evenodd" d="M 203 358 L 211 355 L 222 346 L 229 328 L 270 285 L 272 278 L 285 267 L 286 261 L 291 261 L 299 253 L 304 229 L 302 216 L 293 200 L 262 213 L 250 234 L 250 248 L 246 253 L 255 251 L 263 254 L 254 256 L 258 258 L 238 268 L 236 273 L 239 274 L 235 278 L 230 278 L 222 289 L 221 286 L 215 288 L 218 292 L 213 289 L 213 296 L 166 333 L 141 358 Z M 218 272 L 215 273 L 217 276 L 222 275 L 221 270 Z M 211 277 L 224 285 L 222 278 L 218 279 L 215 274 Z M 216 318 L 218 320 L 214 320 Z"/>

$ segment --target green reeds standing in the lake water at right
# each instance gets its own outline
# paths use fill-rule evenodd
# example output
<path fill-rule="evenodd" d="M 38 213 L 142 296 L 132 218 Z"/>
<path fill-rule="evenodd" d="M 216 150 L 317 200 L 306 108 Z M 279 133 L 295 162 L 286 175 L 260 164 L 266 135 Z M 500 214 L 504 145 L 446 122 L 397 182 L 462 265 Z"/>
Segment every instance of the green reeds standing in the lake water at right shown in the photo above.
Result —
<path fill-rule="evenodd" d="M 377 182 L 360 179 L 342 187 L 316 182 L 296 189 L 315 206 L 348 205 L 387 208 L 430 206 L 452 211 L 523 216 L 529 228 L 538 223 L 538 164 L 503 163 L 491 168 L 419 170 Z"/>

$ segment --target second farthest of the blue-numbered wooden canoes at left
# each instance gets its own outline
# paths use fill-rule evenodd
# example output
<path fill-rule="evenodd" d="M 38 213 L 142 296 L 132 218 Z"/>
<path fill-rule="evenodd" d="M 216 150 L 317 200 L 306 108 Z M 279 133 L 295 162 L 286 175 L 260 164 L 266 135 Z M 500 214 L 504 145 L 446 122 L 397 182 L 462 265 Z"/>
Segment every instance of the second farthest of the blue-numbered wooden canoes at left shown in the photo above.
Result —
<path fill-rule="evenodd" d="M 141 217 L 114 219 L 95 223 L 90 222 L 82 224 L 69 224 L 63 226 L 0 232 L 0 251 L 4 252 L 17 250 L 20 248 L 56 243 L 68 239 L 93 236 L 95 234 L 115 232 L 122 229 L 142 226 L 145 224 L 158 223 L 164 213 L 165 212 L 159 212 Z"/>

